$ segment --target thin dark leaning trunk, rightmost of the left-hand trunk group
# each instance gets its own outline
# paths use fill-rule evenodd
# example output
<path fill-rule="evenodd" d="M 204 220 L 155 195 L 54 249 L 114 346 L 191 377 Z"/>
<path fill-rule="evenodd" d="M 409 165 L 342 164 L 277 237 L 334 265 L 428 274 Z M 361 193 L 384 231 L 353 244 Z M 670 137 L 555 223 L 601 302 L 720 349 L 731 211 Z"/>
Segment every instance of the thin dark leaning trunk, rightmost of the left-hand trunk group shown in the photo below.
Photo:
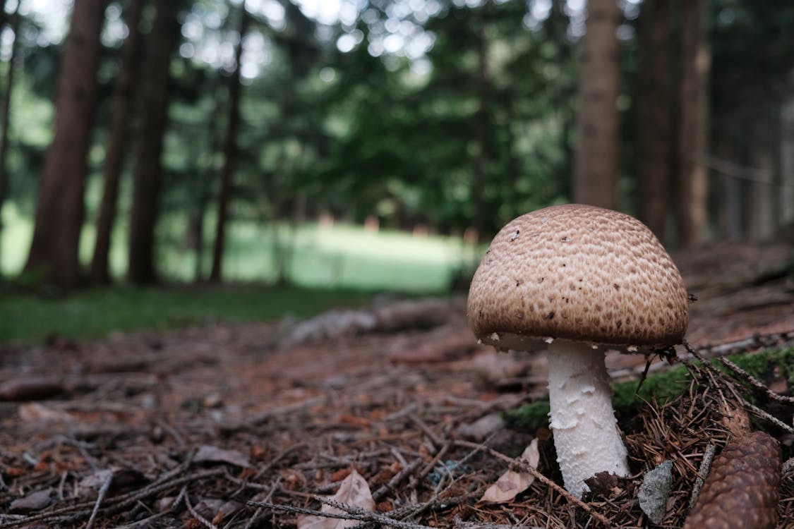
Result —
<path fill-rule="evenodd" d="M 249 14 L 245 10 L 245 2 L 241 6 L 240 40 L 234 50 L 234 71 L 229 75 L 229 121 L 226 125 L 226 136 L 223 141 L 223 168 L 221 170 L 221 186 L 218 190 L 218 223 L 215 225 L 215 243 L 212 247 L 212 269 L 210 281 L 220 282 L 222 279 L 223 253 L 226 240 L 226 220 L 229 216 L 229 194 L 232 178 L 237 162 L 237 131 L 240 128 L 240 59 L 243 52 L 243 38 L 248 32 Z"/>

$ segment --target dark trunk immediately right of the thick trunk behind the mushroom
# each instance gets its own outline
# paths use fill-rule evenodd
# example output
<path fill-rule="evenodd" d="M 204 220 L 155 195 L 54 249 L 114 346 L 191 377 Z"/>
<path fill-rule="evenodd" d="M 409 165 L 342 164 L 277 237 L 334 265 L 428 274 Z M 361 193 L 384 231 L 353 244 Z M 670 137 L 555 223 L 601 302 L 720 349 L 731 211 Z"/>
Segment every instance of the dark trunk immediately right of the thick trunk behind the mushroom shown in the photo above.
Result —
<path fill-rule="evenodd" d="M 637 215 L 665 242 L 670 187 L 670 0 L 645 0 L 639 18 Z"/>

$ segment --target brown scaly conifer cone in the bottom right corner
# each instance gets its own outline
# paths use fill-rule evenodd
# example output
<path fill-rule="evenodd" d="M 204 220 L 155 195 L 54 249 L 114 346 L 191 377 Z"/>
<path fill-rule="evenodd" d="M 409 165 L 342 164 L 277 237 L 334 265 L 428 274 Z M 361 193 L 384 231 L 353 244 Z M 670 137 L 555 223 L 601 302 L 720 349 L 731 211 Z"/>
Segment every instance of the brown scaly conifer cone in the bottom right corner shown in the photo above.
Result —
<path fill-rule="evenodd" d="M 731 441 L 715 459 L 684 529 L 773 529 L 781 448 L 762 431 Z"/>

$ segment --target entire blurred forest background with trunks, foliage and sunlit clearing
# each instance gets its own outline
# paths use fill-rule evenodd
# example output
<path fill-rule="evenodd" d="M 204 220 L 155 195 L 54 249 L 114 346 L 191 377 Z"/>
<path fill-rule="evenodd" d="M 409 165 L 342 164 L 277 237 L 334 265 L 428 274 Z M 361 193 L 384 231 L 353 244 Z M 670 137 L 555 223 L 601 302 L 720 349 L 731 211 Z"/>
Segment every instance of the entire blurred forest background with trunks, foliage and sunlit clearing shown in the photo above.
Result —
<path fill-rule="evenodd" d="M 2 8 L 4 296 L 440 291 L 466 285 L 507 220 L 567 201 L 681 251 L 792 237 L 794 6 Z"/>

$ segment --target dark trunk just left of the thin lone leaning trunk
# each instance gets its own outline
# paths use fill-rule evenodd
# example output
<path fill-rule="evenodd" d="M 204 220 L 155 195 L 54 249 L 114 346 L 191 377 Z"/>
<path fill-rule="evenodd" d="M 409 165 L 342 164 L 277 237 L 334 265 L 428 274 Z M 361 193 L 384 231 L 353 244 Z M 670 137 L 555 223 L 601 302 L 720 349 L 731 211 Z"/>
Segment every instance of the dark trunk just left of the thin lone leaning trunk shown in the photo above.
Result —
<path fill-rule="evenodd" d="M 148 36 L 146 73 L 142 86 L 144 114 L 138 134 L 133 170 L 133 205 L 129 221 L 127 278 L 137 284 L 156 281 L 154 231 L 160 201 L 163 136 L 168 122 L 169 70 L 178 42 L 179 2 L 159 0 L 152 33 Z"/>

